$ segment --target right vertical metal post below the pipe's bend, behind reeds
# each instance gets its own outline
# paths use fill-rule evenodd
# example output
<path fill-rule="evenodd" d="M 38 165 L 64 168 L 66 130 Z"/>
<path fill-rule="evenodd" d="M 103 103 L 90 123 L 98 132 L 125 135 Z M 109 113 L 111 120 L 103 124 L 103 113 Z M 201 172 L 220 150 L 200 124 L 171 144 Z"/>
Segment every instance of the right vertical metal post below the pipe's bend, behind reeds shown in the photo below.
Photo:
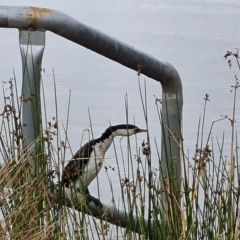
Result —
<path fill-rule="evenodd" d="M 176 74 L 175 79 L 180 79 Z M 171 86 L 172 85 L 172 86 Z M 174 84 L 169 81 L 162 85 L 162 152 L 161 170 L 162 183 L 166 195 L 162 198 L 163 219 L 167 220 L 167 211 L 175 212 L 179 226 L 181 221 L 181 185 L 182 185 L 182 106 L 183 97 L 181 86 L 173 88 Z M 171 88 L 173 90 L 171 90 Z M 168 197 L 168 193 L 173 195 Z"/>

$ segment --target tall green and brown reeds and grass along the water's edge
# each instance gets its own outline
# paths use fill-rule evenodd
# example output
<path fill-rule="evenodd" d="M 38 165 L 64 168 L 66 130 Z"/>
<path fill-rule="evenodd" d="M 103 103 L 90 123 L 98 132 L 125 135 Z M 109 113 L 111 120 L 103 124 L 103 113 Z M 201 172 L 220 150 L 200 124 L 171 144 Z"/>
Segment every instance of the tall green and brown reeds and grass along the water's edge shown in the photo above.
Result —
<path fill-rule="evenodd" d="M 232 59 L 235 59 L 239 67 L 238 51 L 227 52 L 225 57 L 230 66 Z M 106 163 L 102 170 L 109 179 L 112 203 L 105 205 L 102 211 L 94 213 L 86 204 L 85 196 L 74 190 L 64 189 L 61 184 L 61 171 L 66 165 L 63 160 L 66 161 L 66 151 L 71 151 L 71 136 L 68 136 L 71 93 L 66 124 L 61 127 L 58 125 L 54 74 L 53 79 L 55 117 L 51 116 L 49 119 L 46 114 L 47 106 L 42 87 L 45 124 L 42 134 L 30 146 L 24 145 L 22 136 L 22 99 L 16 89 L 15 77 L 3 84 L 4 107 L 0 125 L 0 239 L 240 238 L 239 145 L 235 126 L 239 80 L 236 76 L 232 85 L 232 116 L 223 116 L 212 122 L 207 136 L 204 133 L 209 95 L 205 95 L 202 117 L 196 126 L 196 143 L 191 146 L 195 147 L 193 156 L 184 152 L 179 141 L 182 136 L 172 134 L 163 139 L 168 141 L 169 137 L 172 137 L 179 142 L 183 158 L 182 179 L 171 178 L 170 173 L 169 177 L 162 175 L 159 143 L 152 136 L 147 135 L 144 142 L 138 142 L 136 137 L 134 144 L 132 139 L 128 139 L 127 148 L 122 147 L 121 142 L 114 141 L 112 147 L 117 168 Z M 155 101 L 149 103 L 147 85 L 146 82 L 142 84 L 140 71 L 138 81 L 146 127 L 148 128 L 148 106 L 155 104 L 160 135 L 161 99 L 155 97 Z M 131 122 L 127 96 L 125 106 L 126 122 Z M 214 140 L 213 137 L 212 130 L 215 124 L 221 121 L 229 121 L 231 124 L 229 156 L 225 156 L 225 133 L 223 132 L 221 139 Z M 90 111 L 89 122 L 91 123 Z M 91 128 L 92 126 L 88 131 L 83 131 L 90 139 L 93 137 Z M 36 154 L 34 149 L 38 144 L 41 144 L 43 151 Z M 172 159 L 170 156 L 168 159 L 171 166 Z M 37 175 L 31 170 L 33 163 L 42 166 Z M 156 166 L 153 163 L 158 164 Z M 114 196 L 109 171 L 116 173 L 119 178 L 120 199 Z M 163 185 L 160 185 L 161 181 Z M 173 187 L 176 181 L 182 185 L 179 192 Z M 167 202 L 167 209 L 161 207 L 163 199 Z M 121 221 L 117 221 L 118 215 L 114 206 L 122 210 L 125 221 L 122 216 L 119 216 Z M 115 209 L 116 212 L 114 210 L 111 213 L 107 211 L 108 208 Z"/>

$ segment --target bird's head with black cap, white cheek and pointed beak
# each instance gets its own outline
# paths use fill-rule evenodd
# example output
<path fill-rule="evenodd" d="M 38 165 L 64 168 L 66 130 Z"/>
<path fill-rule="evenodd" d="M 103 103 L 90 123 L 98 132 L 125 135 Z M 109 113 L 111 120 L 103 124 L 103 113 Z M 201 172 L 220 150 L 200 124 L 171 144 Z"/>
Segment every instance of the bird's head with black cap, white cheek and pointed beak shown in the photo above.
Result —
<path fill-rule="evenodd" d="M 139 127 L 132 124 L 120 124 L 111 126 L 106 129 L 104 135 L 107 136 L 132 136 L 137 133 L 147 132 L 146 129 L 140 129 Z"/>

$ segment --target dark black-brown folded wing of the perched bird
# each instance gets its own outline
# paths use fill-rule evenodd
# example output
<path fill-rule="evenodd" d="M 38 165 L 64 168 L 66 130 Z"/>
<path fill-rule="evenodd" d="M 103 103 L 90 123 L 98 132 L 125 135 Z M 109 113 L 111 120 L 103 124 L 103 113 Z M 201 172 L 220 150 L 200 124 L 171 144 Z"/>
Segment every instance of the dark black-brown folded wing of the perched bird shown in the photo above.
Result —
<path fill-rule="evenodd" d="M 93 151 L 94 141 L 90 141 L 82 146 L 68 162 L 63 170 L 62 182 L 69 187 L 70 182 L 75 182 L 82 175 L 84 167 L 89 161 L 89 157 Z"/>

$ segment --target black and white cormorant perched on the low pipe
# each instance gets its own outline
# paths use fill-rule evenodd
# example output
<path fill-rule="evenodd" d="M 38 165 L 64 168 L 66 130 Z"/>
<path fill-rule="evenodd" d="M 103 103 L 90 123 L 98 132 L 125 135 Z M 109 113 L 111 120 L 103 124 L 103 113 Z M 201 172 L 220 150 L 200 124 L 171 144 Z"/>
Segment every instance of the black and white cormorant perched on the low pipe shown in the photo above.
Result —
<path fill-rule="evenodd" d="M 80 193 L 86 193 L 88 202 L 102 207 L 99 199 L 90 195 L 88 186 L 97 177 L 102 168 L 104 156 L 116 136 L 131 136 L 147 132 L 132 124 L 111 126 L 100 138 L 91 140 L 82 146 L 68 162 L 63 170 L 62 182 L 67 188 L 72 187 Z"/>

